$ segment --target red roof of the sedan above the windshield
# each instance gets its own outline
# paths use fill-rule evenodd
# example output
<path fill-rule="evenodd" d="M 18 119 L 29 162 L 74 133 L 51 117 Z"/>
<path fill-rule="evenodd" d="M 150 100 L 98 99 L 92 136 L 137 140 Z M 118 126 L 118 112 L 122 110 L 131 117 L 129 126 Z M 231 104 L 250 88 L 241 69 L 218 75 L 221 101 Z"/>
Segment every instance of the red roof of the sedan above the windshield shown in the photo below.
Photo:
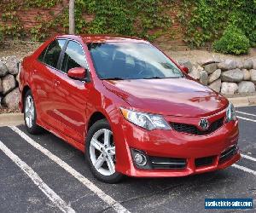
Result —
<path fill-rule="evenodd" d="M 148 43 L 148 41 L 137 37 L 112 36 L 112 35 L 58 35 L 57 37 L 78 39 L 82 38 L 84 43 L 105 43 L 105 42 L 129 42 Z"/>

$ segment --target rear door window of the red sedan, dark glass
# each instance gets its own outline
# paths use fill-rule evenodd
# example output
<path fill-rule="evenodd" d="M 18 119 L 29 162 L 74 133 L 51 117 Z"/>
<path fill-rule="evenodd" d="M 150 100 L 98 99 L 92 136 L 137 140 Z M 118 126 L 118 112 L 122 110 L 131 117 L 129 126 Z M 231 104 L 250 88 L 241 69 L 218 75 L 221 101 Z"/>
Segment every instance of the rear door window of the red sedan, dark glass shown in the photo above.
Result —
<path fill-rule="evenodd" d="M 44 63 L 56 68 L 61 54 L 61 49 L 65 43 L 66 40 L 64 39 L 55 40 L 50 43 L 44 55 Z"/>

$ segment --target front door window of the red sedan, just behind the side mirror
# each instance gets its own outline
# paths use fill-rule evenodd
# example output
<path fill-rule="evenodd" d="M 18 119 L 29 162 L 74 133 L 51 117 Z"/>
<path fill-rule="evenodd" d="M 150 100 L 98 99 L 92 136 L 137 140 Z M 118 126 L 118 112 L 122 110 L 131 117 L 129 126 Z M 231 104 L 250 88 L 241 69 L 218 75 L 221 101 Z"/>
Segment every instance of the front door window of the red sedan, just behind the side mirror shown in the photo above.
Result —
<path fill-rule="evenodd" d="M 61 71 L 66 72 L 75 67 L 87 68 L 85 55 L 79 43 L 70 41 L 64 53 Z"/>

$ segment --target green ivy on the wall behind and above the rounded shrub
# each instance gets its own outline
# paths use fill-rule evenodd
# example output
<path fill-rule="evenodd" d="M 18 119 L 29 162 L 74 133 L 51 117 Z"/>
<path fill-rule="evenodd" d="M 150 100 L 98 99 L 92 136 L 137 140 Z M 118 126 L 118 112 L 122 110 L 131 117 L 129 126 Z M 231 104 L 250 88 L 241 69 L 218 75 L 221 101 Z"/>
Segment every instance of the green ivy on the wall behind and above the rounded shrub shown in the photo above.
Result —
<path fill-rule="evenodd" d="M 178 18 L 192 48 L 218 40 L 228 26 L 241 29 L 256 45 L 256 0 L 182 0 Z"/>

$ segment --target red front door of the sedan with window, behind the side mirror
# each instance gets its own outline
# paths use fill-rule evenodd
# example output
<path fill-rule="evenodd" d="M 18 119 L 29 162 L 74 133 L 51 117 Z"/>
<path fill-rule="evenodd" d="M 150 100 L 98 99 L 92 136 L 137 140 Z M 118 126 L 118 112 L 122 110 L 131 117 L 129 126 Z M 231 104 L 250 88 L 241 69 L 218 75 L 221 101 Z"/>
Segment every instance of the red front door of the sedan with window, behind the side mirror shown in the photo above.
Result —
<path fill-rule="evenodd" d="M 55 72 L 54 118 L 56 128 L 74 140 L 84 143 L 85 109 L 91 83 L 67 76 L 75 67 L 88 69 L 82 45 L 69 40 L 63 52 L 60 71 Z"/>

